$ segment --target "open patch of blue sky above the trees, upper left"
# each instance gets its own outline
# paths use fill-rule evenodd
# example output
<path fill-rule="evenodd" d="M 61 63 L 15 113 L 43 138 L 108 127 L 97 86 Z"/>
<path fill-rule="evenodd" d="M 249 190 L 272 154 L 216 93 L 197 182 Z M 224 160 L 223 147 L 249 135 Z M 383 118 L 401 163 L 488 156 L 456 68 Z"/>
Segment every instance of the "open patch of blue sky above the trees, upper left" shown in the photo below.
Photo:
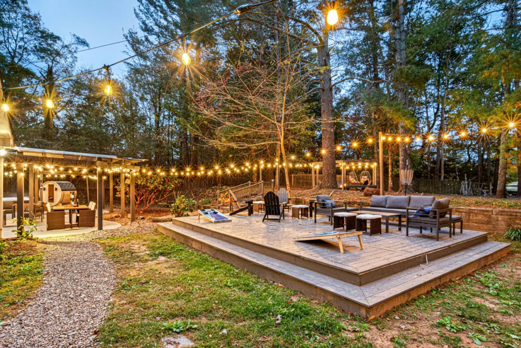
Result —
<path fill-rule="evenodd" d="M 139 29 L 134 16 L 136 0 L 28 0 L 34 12 L 39 12 L 45 26 L 65 40 L 75 33 L 91 47 L 123 40 L 130 28 Z M 78 53 L 78 65 L 98 67 L 124 58 L 125 43 Z M 113 67 L 121 75 L 125 65 Z"/>

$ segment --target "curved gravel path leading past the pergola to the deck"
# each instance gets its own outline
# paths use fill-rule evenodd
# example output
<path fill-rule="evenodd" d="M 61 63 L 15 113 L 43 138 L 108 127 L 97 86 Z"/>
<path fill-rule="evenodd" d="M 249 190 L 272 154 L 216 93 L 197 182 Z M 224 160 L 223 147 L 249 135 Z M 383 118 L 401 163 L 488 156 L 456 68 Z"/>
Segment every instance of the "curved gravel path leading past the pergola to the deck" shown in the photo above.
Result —
<path fill-rule="evenodd" d="M 150 231 L 141 220 L 114 230 L 42 239 L 44 283 L 29 305 L 0 326 L 0 347 L 92 347 L 117 283 L 93 239 Z"/>

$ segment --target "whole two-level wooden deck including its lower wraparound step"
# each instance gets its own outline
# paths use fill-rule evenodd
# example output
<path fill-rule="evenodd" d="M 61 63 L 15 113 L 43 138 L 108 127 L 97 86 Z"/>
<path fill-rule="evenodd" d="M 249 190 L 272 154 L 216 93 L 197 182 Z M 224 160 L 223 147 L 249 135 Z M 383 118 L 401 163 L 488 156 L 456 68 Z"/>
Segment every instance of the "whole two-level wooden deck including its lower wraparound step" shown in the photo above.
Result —
<path fill-rule="evenodd" d="M 211 223 L 201 217 L 160 223 L 160 232 L 214 257 L 277 281 L 304 294 L 330 301 L 365 317 L 380 315 L 432 287 L 461 277 L 508 252 L 507 243 L 487 242 L 487 233 L 467 231 L 449 237 L 448 229 L 419 233 L 405 226 L 389 233 L 342 239 L 295 242 L 294 237 L 332 231 L 327 218 L 280 223 L 262 222 L 262 215 L 234 215 L 231 223 Z M 337 229 L 340 231 L 339 229 Z M 384 231 L 384 228 L 382 228 Z M 426 265 L 428 261 L 428 266 Z"/>

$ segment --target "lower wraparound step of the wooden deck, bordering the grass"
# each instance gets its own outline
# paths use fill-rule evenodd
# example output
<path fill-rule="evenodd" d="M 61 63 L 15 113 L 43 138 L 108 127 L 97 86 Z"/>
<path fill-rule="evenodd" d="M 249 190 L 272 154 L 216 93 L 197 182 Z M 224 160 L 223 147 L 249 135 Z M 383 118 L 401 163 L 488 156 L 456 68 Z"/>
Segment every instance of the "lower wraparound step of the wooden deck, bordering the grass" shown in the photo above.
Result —
<path fill-rule="evenodd" d="M 171 223 L 159 223 L 158 230 L 235 267 L 365 318 L 379 316 L 450 279 L 479 269 L 506 255 L 510 247 L 508 243 L 483 242 L 429 261 L 428 265 L 357 286 Z"/>

